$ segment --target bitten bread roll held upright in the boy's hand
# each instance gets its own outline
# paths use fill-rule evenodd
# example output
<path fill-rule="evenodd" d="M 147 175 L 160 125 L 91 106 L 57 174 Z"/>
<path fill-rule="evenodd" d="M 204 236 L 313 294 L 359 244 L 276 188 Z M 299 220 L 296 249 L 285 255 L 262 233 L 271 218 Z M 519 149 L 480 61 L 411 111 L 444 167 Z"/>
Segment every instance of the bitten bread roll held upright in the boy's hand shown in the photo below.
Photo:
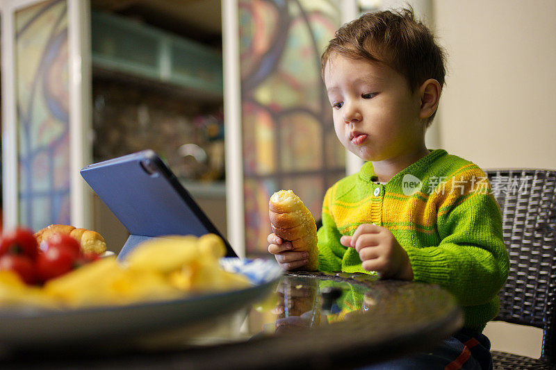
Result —
<path fill-rule="evenodd" d="M 318 268 L 317 226 L 311 212 L 291 190 L 275 192 L 268 201 L 272 231 L 291 241 L 294 251 L 307 252 L 306 269 Z"/>

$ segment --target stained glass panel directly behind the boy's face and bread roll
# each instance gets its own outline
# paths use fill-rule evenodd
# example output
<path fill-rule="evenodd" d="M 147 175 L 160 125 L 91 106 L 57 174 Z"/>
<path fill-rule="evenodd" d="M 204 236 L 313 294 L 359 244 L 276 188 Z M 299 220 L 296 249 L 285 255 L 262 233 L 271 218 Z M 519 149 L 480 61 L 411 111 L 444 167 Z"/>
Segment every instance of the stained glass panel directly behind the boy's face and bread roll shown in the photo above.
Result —
<path fill-rule="evenodd" d="M 320 219 L 345 176 L 320 54 L 341 26 L 340 0 L 240 0 L 245 246 L 266 253 L 268 199 L 291 189 Z"/>

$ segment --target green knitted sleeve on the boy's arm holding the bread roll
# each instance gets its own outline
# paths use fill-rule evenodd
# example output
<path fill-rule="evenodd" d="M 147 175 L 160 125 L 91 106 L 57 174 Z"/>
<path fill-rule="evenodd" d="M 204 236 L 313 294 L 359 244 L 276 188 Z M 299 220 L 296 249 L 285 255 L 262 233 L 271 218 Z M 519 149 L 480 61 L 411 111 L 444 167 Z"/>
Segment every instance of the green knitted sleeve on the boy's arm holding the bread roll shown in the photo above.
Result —
<path fill-rule="evenodd" d="M 329 212 L 332 203 L 332 188 L 325 194 L 322 203 L 322 226 L 318 229 L 318 269 L 341 271 L 345 246 L 340 244 L 341 233 Z"/>

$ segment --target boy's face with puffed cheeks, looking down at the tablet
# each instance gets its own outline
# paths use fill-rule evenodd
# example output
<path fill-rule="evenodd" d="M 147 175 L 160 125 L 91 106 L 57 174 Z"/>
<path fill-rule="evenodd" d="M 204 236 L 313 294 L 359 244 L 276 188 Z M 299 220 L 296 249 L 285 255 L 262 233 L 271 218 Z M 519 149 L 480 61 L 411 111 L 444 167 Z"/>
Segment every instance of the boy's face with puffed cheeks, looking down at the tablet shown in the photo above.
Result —
<path fill-rule="evenodd" d="M 423 145 L 421 100 L 384 63 L 330 56 L 325 85 L 340 142 L 363 160 L 395 160 Z"/>

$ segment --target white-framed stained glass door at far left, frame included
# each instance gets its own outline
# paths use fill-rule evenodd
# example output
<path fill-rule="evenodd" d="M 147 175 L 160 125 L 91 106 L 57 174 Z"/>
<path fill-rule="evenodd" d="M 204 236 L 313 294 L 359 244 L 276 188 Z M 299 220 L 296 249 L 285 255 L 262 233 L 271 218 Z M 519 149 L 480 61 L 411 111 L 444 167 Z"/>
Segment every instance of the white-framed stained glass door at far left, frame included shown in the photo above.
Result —
<path fill-rule="evenodd" d="M 88 1 L 12 0 L 2 12 L 4 226 L 88 225 Z"/>

